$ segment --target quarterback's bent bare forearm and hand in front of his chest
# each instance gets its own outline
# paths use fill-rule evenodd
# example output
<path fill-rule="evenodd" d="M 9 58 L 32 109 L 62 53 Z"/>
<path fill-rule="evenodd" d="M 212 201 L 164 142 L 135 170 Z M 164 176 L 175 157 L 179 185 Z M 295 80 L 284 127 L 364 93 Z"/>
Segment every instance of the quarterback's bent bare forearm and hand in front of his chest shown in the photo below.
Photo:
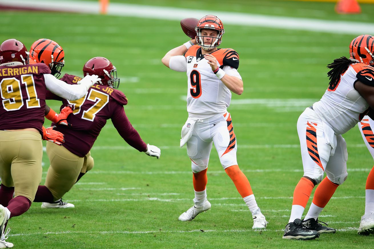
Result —
<path fill-rule="evenodd" d="M 233 93 L 241 95 L 243 93 L 243 81 L 235 76 L 230 76 L 225 73 L 222 69 L 218 68 L 217 59 L 211 54 L 205 54 L 205 59 L 208 60 L 208 64 L 211 66 L 212 71 L 217 75 L 218 79 L 222 81 L 227 88 Z"/>

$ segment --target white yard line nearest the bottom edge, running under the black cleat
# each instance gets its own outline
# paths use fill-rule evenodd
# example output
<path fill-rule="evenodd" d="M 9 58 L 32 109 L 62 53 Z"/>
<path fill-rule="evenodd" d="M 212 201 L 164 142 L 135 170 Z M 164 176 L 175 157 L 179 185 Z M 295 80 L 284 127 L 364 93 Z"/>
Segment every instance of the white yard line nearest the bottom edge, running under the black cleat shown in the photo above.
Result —
<path fill-rule="evenodd" d="M 346 231 L 353 231 L 357 230 L 356 227 L 344 227 L 338 229 L 340 232 Z M 215 230 L 215 229 L 207 229 L 207 230 L 153 230 L 153 231 L 60 231 L 60 232 L 46 232 L 46 233 L 18 233 L 18 234 L 9 234 L 9 237 L 15 236 L 33 236 L 33 235 L 42 235 L 42 234 L 92 234 L 92 233 L 100 233 L 100 234 L 147 234 L 147 233 L 247 233 L 247 232 L 257 232 L 257 231 L 275 231 L 281 232 L 284 231 L 283 229 L 263 229 L 263 230 L 253 230 L 253 229 L 229 229 L 229 230 Z"/>

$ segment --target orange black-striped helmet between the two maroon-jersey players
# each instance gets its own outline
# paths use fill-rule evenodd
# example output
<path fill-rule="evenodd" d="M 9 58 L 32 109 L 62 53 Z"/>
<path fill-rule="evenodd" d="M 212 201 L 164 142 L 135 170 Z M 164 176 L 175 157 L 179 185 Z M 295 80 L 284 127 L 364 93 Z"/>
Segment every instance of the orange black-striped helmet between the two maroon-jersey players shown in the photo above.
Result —
<path fill-rule="evenodd" d="M 60 76 L 61 69 L 65 65 L 64 56 L 62 47 L 49 39 L 39 39 L 30 48 L 30 64 L 46 64 L 56 78 Z"/>

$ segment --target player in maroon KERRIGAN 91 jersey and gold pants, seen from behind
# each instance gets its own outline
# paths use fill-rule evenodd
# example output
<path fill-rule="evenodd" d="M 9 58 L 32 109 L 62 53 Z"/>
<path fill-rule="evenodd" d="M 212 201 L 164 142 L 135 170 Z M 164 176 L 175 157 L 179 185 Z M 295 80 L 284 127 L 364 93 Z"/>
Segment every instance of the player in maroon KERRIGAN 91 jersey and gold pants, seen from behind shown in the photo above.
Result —
<path fill-rule="evenodd" d="M 42 179 L 42 138 L 58 145 L 64 139 L 52 127 L 43 127 L 47 89 L 75 100 L 85 96 L 99 80 L 97 76 L 88 76 L 72 86 L 52 76 L 45 64 L 28 63 L 28 52 L 22 42 L 9 39 L 1 43 L 0 248 L 13 247 L 5 241 L 10 230 L 4 233 L 7 221 L 26 212 L 34 200 Z"/>

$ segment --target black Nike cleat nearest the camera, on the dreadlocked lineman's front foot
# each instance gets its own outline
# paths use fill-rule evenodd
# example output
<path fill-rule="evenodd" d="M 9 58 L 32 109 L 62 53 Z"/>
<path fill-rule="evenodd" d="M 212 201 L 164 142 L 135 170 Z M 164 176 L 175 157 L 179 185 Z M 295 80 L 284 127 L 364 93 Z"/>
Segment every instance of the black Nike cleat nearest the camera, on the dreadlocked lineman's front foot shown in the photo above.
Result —
<path fill-rule="evenodd" d="M 312 240 L 318 237 L 317 231 L 309 230 L 301 223 L 301 219 L 295 219 L 286 225 L 282 239 Z"/>

